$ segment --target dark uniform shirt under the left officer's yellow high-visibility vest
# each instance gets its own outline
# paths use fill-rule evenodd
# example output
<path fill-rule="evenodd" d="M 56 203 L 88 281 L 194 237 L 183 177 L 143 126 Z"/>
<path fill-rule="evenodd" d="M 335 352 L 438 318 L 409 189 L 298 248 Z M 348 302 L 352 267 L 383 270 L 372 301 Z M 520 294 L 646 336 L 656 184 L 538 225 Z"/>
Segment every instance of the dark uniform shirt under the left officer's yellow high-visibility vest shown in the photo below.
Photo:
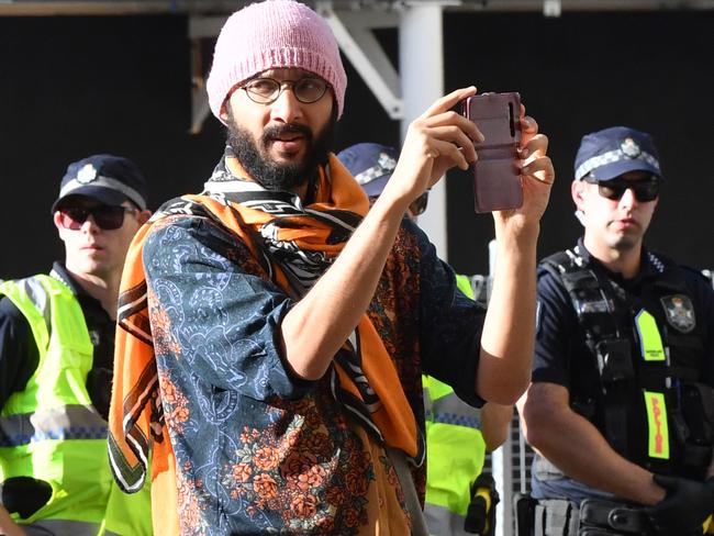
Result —
<path fill-rule="evenodd" d="M 107 418 L 112 390 L 116 324 L 99 300 L 89 295 L 60 263 L 53 265 L 53 276 L 69 287 L 85 315 L 93 346 L 87 391 L 97 411 Z M 38 362 L 40 351 L 27 320 L 7 297 L 3 297 L 0 299 L 0 409 L 12 393 L 24 390 Z"/>

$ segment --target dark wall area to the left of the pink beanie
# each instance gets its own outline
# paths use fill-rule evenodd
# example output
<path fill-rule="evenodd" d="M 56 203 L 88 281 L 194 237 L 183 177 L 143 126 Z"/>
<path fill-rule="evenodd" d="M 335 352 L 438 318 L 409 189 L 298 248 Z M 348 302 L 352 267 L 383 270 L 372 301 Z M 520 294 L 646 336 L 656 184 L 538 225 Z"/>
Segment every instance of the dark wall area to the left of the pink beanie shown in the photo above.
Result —
<path fill-rule="evenodd" d="M 221 132 L 188 134 L 186 35 L 172 16 L 0 18 L 0 277 L 63 255 L 49 206 L 69 161 L 130 156 L 154 206 L 196 190 Z"/>

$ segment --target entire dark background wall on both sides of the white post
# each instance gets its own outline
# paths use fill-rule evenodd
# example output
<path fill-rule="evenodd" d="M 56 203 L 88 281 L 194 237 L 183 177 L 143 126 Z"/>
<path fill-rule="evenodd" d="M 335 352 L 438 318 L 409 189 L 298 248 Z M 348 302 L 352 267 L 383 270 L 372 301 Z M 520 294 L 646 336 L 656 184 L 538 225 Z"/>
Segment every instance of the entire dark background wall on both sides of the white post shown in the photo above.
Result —
<path fill-rule="evenodd" d="M 651 132 L 669 182 L 650 243 L 714 267 L 714 12 L 446 14 L 446 88 L 517 90 L 550 136 L 558 171 L 542 254 L 578 235 L 569 197 L 580 136 L 613 124 Z M 152 204 L 200 190 L 223 132 L 190 125 L 183 16 L 0 18 L 0 278 L 46 270 L 62 255 L 48 209 L 66 165 L 98 152 L 130 156 Z M 381 32 L 392 57 L 395 32 Z M 395 144 L 390 121 L 347 64 L 347 109 L 336 148 Z M 425 72 L 424 76 L 429 76 Z M 466 174 L 447 183 L 449 253 L 457 270 L 487 269 L 490 216 L 476 216 Z"/>

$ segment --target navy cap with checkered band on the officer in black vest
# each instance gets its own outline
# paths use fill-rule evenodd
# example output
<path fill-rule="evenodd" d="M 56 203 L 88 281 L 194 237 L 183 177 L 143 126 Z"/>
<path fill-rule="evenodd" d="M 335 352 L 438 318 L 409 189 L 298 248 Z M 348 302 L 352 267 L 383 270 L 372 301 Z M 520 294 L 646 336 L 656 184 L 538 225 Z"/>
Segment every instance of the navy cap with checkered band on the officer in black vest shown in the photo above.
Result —
<path fill-rule="evenodd" d="M 605 181 L 628 171 L 648 171 L 663 179 L 649 134 L 613 126 L 583 136 L 576 156 L 576 180 L 590 176 Z"/>

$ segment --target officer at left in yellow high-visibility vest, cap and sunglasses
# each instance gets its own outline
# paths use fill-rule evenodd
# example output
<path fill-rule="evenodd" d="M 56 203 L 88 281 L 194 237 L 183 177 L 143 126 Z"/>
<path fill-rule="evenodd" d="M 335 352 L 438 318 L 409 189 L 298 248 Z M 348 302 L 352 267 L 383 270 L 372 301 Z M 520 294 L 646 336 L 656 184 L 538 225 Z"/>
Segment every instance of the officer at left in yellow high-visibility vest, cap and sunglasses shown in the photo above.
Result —
<path fill-rule="evenodd" d="M 0 284 L 2 534 L 150 534 L 148 493 L 120 492 L 107 450 L 119 283 L 146 198 L 127 158 L 70 164 L 52 206 L 64 263 Z"/>

